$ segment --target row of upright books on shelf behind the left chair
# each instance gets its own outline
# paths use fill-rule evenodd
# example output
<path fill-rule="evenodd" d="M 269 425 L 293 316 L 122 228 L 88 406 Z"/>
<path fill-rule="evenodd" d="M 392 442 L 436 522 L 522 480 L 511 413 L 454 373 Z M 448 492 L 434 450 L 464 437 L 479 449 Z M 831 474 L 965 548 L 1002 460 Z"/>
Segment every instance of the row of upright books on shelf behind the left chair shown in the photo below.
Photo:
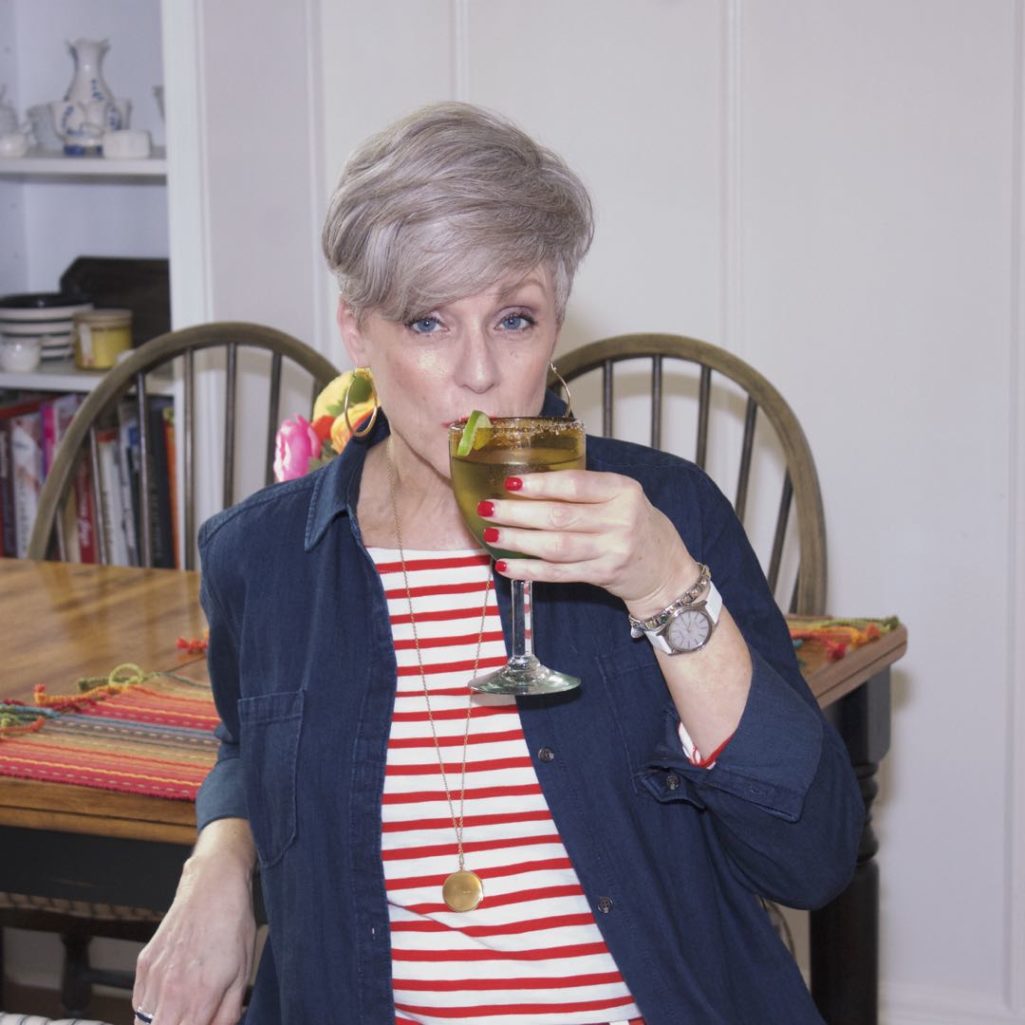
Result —
<path fill-rule="evenodd" d="M 43 481 L 82 398 L 77 394 L 0 395 L 0 543 L 4 556 L 28 555 Z M 93 482 L 86 447 L 73 494 L 61 510 L 59 529 L 71 562 L 100 562 L 102 543 L 112 565 L 141 565 L 145 501 L 152 517 L 152 565 L 177 565 L 173 400 L 152 396 L 148 402 L 149 493 L 140 495 L 138 411 L 134 400 L 126 400 L 97 429 L 98 481 Z"/>

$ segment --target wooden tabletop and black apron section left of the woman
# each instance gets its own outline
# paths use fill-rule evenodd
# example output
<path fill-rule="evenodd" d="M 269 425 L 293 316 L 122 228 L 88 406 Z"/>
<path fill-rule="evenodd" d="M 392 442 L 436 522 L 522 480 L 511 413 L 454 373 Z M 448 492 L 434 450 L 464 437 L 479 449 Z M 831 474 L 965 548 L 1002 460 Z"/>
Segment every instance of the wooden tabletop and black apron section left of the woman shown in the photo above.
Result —
<path fill-rule="evenodd" d="M 177 638 L 204 627 L 196 573 L 0 560 L 0 696 L 126 661 L 203 679 Z M 195 833 L 188 802 L 0 777 L 0 891 L 163 910 Z"/>

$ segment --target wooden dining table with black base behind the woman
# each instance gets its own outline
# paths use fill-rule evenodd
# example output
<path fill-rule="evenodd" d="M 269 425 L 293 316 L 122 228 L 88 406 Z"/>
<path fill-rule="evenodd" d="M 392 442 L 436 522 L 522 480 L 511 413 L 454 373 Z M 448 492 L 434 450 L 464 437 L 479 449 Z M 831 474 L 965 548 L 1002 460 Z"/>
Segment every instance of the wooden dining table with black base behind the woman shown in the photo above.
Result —
<path fill-rule="evenodd" d="M 198 594 L 197 573 L 0 560 L 0 696 L 28 699 L 44 681 L 71 690 L 124 661 L 205 679 L 202 658 L 176 646 L 204 628 Z M 890 744 L 890 666 L 906 646 L 901 626 L 806 667 L 869 810 Z M 0 777 L 0 891 L 162 910 L 194 838 L 189 802 Z M 854 883 L 812 915 L 812 992 L 830 1025 L 876 1020 L 877 848 L 869 821 Z"/>

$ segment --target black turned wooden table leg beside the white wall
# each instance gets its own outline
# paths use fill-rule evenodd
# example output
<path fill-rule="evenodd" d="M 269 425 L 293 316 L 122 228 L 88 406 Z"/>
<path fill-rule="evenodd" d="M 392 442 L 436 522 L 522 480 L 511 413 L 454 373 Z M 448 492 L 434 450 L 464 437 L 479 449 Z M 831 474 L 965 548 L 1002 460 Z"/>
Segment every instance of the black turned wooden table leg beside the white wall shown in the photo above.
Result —
<path fill-rule="evenodd" d="M 890 749 L 890 670 L 826 709 L 851 754 L 865 827 L 851 885 L 811 915 L 812 996 L 828 1025 L 876 1025 L 879 990 L 878 839 L 872 829 L 876 772 Z"/>

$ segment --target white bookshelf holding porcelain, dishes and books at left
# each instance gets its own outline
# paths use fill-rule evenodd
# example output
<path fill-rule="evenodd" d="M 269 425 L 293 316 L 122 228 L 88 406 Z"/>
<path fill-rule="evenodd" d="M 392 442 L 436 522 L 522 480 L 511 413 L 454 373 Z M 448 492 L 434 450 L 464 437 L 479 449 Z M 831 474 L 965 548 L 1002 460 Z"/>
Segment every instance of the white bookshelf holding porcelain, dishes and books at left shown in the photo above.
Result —
<path fill-rule="evenodd" d="M 195 157 L 197 126 L 189 119 L 179 121 L 181 138 L 168 146 L 169 133 L 154 95 L 155 86 L 164 86 L 168 107 L 173 107 L 174 83 L 191 77 L 192 49 L 181 44 L 191 38 L 193 10 L 192 0 L 0 4 L 0 38 L 10 43 L 0 48 L 0 83 L 6 85 L 5 99 L 19 118 L 27 117 L 30 107 L 64 95 L 73 74 L 66 40 L 109 39 L 104 77 L 116 95 L 130 99 L 131 127 L 149 131 L 154 144 L 151 156 L 138 160 L 66 157 L 40 150 L 0 158 L 0 237 L 5 243 L 0 247 L 0 294 L 55 291 L 65 270 L 86 255 L 167 257 L 172 277 L 174 265 L 186 272 L 180 293 L 195 294 L 188 280 L 192 261 L 181 258 L 195 251 L 190 211 L 196 189 L 189 180 L 195 175 L 184 175 L 182 220 L 176 229 L 182 242 L 176 247 L 170 224 L 174 161 L 168 150 L 188 168 Z M 174 43 L 169 69 L 168 36 Z M 188 97 L 188 86 L 183 94 Z M 189 321 L 202 315 L 179 303 L 176 316 Z M 42 395 L 43 404 L 52 405 L 63 396 L 83 398 L 101 379 L 101 372 L 80 370 L 69 359 L 44 362 L 30 372 L 0 372 L 0 392 L 6 403 Z M 151 378 L 148 389 L 172 402 L 179 398 L 170 372 Z"/>

